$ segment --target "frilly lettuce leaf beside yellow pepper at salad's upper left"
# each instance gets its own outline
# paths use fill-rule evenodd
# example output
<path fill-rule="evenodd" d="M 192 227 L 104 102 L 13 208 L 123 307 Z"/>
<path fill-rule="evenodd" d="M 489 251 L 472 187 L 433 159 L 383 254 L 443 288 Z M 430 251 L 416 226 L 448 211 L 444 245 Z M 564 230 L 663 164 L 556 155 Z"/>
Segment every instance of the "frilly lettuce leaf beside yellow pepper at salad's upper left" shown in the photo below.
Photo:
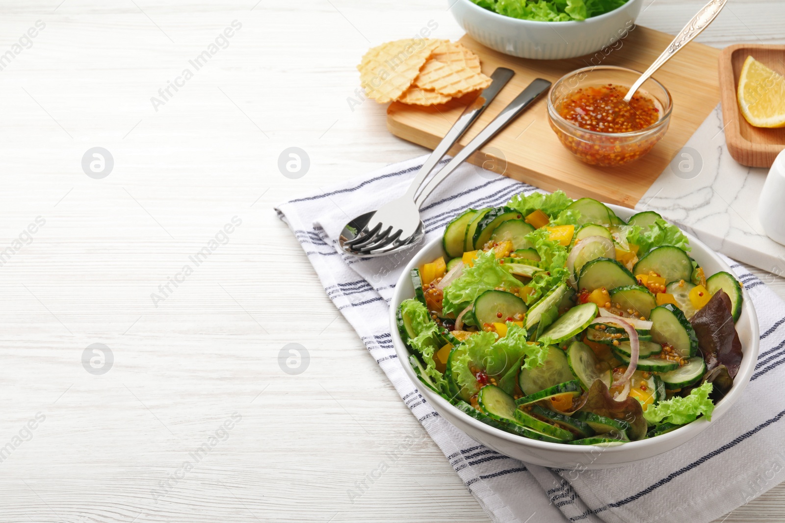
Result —
<path fill-rule="evenodd" d="M 466 267 L 461 277 L 444 289 L 442 309 L 445 314 L 460 314 L 485 291 L 517 292 L 523 286 L 502 263 L 498 263 L 493 251 L 480 252 L 474 267 Z"/>

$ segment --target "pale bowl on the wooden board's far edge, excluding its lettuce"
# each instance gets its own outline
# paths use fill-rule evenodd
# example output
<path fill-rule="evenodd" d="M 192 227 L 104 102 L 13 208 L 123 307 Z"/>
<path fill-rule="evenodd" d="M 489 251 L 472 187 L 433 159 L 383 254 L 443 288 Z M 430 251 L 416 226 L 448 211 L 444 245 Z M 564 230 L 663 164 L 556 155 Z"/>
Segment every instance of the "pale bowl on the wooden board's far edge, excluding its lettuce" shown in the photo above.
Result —
<path fill-rule="evenodd" d="M 580 22 L 534 22 L 493 13 L 471 0 L 447 0 L 452 16 L 477 42 L 521 58 L 560 60 L 595 53 L 626 38 L 643 0 Z M 623 45 L 623 43 L 622 43 Z M 601 56 L 604 58 L 604 56 Z"/>

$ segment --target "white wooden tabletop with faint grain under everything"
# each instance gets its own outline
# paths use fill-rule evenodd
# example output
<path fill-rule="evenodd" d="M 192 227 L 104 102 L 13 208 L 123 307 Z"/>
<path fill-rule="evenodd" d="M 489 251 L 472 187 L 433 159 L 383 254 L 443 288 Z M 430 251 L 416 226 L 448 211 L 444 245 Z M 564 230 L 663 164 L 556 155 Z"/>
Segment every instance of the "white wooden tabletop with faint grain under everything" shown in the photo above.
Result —
<path fill-rule="evenodd" d="M 646 3 L 674 32 L 704 1 Z M 783 14 L 736 0 L 701 40 L 782 42 Z M 0 4 L 0 521 L 487 521 L 272 211 L 422 154 L 347 99 L 367 47 L 429 20 L 462 34 L 436 0 Z M 286 147 L 309 154 L 299 180 Z M 111 368 L 82 364 L 93 343 Z M 778 487 L 725 521 L 783 510 Z"/>

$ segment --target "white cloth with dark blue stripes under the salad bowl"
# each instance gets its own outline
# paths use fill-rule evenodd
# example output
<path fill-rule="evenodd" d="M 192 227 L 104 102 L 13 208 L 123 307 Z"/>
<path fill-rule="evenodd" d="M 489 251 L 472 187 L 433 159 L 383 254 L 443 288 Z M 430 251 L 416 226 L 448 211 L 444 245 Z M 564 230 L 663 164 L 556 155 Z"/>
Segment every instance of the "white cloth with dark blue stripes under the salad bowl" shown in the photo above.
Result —
<path fill-rule="evenodd" d="M 732 267 L 761 323 L 756 372 L 719 423 L 666 455 L 609 470 L 553 470 L 502 456 L 441 418 L 404 374 L 390 338 L 392 290 L 412 253 L 360 260 L 335 241 L 350 218 L 403 194 L 423 161 L 390 165 L 276 210 L 330 299 L 493 521 L 703 523 L 785 480 L 785 303 L 738 263 Z M 425 241 L 463 209 L 500 205 L 521 191 L 535 187 L 463 165 L 422 209 Z"/>

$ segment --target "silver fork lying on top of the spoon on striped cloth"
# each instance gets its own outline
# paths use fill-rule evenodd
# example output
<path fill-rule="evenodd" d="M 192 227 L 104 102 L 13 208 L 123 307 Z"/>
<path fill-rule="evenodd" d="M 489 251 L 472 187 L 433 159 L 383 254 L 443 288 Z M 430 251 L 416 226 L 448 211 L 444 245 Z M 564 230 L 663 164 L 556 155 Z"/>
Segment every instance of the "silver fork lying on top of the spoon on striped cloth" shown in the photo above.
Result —
<path fill-rule="evenodd" d="M 439 161 L 444 158 L 447 151 L 450 151 L 455 142 L 461 139 L 461 136 L 480 117 L 480 114 L 483 114 L 514 74 L 514 71 L 506 67 L 498 67 L 491 74 L 491 85 L 488 85 L 480 93 L 480 96 L 477 96 L 473 103 L 466 107 L 458 121 L 447 131 L 439 145 L 433 149 L 433 153 L 422 164 L 417 176 L 414 176 L 406 194 L 392 202 L 385 203 L 376 211 L 357 216 L 349 222 L 344 228 L 344 231 L 349 235 L 341 234 L 341 240 L 339 240 L 342 249 L 352 254 L 362 251 L 370 252 L 399 241 L 399 239 L 400 242 L 406 242 L 416 234 L 418 227 L 420 227 L 418 208 L 414 207 L 414 198 L 417 196 L 418 189 Z M 352 234 L 352 231 L 356 232 Z"/>

